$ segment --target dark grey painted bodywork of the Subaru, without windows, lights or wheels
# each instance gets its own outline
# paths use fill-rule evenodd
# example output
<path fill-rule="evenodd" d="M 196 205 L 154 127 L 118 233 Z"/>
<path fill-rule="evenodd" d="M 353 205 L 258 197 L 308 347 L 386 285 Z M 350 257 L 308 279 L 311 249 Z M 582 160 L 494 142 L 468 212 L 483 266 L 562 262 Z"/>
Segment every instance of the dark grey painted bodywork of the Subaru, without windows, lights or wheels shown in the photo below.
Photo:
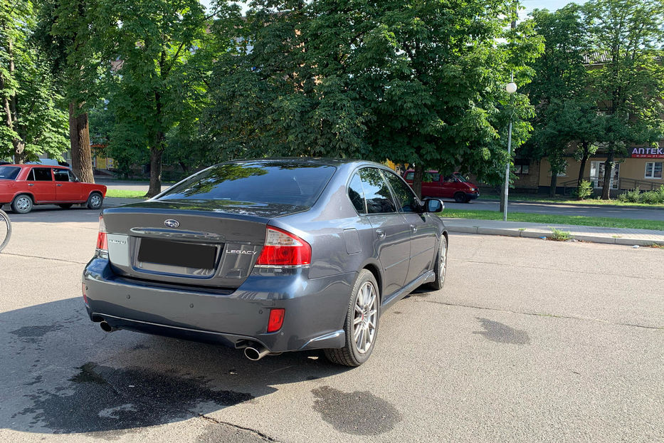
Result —
<path fill-rule="evenodd" d="M 270 160 L 274 162 L 274 160 Z M 288 162 L 297 160 L 290 159 Z M 109 256 L 98 254 L 83 274 L 88 313 L 115 327 L 241 346 L 248 340 L 278 352 L 344 345 L 344 318 L 360 269 L 376 273 L 387 307 L 433 281 L 443 222 L 432 214 L 359 215 L 347 183 L 371 162 L 304 160 L 337 170 L 310 208 L 211 201 L 159 201 L 106 209 Z M 164 226 L 166 219 L 178 228 Z M 310 266 L 259 269 L 265 226 L 311 245 Z M 414 226 L 414 227 L 413 227 Z M 379 236 L 383 230 L 384 238 Z M 212 273 L 137 262 L 142 238 L 218 247 Z M 253 254 L 231 254 L 229 251 Z M 266 333 L 270 308 L 285 308 L 283 328 Z"/>

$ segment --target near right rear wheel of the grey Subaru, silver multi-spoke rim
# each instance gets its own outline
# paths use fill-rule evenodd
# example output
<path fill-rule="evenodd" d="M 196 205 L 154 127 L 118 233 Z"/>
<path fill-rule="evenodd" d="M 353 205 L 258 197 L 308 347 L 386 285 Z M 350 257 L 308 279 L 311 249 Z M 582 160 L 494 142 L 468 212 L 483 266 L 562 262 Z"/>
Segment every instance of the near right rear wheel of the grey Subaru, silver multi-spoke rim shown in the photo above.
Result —
<path fill-rule="evenodd" d="M 326 349 L 325 357 L 337 365 L 359 366 L 369 360 L 378 338 L 381 303 L 374 274 L 367 269 L 359 271 L 351 294 L 344 321 L 346 344 Z"/>

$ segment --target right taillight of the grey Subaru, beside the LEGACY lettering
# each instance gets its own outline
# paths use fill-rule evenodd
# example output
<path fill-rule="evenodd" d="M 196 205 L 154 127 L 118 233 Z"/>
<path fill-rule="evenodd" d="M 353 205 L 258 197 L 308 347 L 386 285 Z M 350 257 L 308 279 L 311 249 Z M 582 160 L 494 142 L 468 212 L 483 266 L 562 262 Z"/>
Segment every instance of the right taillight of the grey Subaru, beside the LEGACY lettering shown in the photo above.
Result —
<path fill-rule="evenodd" d="M 268 226 L 265 246 L 256 266 L 305 266 L 311 264 L 311 246 L 300 237 Z"/>

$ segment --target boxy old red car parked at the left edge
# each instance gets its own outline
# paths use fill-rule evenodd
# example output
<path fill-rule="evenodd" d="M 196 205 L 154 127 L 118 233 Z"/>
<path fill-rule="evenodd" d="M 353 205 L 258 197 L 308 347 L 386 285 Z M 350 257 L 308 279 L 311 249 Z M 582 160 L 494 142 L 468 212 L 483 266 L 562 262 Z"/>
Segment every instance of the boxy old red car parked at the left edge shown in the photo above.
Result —
<path fill-rule="evenodd" d="M 85 204 L 100 209 L 106 195 L 103 184 L 83 183 L 68 167 L 44 165 L 0 166 L 0 207 L 26 214 L 35 204 L 57 204 L 63 209 Z"/>

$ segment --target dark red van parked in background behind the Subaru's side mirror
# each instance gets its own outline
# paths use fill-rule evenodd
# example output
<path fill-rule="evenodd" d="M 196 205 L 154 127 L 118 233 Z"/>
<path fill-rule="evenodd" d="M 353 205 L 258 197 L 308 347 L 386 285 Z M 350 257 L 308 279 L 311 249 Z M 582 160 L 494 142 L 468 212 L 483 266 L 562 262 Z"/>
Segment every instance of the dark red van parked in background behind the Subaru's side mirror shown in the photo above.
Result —
<path fill-rule="evenodd" d="M 404 172 L 404 179 L 413 186 L 414 170 Z M 454 199 L 457 203 L 468 203 L 480 197 L 480 189 L 463 175 L 454 174 L 441 177 L 438 171 L 426 171 L 422 180 L 422 197 Z"/>

